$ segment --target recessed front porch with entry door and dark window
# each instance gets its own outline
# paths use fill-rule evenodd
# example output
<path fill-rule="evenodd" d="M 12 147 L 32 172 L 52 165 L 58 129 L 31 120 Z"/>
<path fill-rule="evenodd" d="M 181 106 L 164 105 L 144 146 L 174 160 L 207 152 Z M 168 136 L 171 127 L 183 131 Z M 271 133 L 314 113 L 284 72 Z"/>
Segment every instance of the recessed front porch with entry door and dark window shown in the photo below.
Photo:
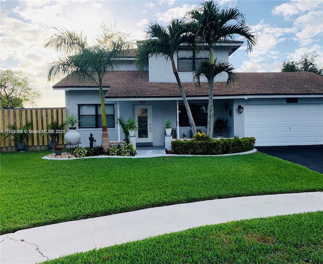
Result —
<path fill-rule="evenodd" d="M 147 99 L 147 98 L 145 98 Z M 199 132 L 206 131 L 207 124 L 207 100 L 191 99 L 189 104 L 195 121 L 196 129 Z M 172 136 L 176 138 L 192 138 L 187 113 L 182 100 L 178 98 L 165 98 L 165 100 L 123 100 L 116 102 L 116 119 L 122 118 L 128 120 L 134 118 L 138 124 L 136 131 L 137 147 L 145 146 L 163 146 L 165 148 L 165 129 L 163 121 L 171 119 L 173 121 Z M 225 137 L 233 136 L 233 100 L 216 99 L 214 100 L 214 118 L 224 117 L 228 120 L 228 131 L 223 135 Z M 116 123 L 115 133 L 112 138 L 121 141 L 123 132 L 121 126 Z M 117 133 L 116 133 L 117 132 Z M 215 135 L 214 135 L 215 136 Z"/>

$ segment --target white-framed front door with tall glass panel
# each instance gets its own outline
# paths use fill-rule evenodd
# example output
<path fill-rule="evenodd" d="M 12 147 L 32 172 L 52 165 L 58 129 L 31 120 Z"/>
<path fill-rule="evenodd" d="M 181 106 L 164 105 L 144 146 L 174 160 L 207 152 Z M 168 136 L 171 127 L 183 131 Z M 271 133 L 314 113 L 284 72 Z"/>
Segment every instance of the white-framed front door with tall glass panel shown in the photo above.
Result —
<path fill-rule="evenodd" d="M 138 145 L 152 145 L 151 105 L 135 105 L 134 116 L 138 124 L 136 131 Z"/>

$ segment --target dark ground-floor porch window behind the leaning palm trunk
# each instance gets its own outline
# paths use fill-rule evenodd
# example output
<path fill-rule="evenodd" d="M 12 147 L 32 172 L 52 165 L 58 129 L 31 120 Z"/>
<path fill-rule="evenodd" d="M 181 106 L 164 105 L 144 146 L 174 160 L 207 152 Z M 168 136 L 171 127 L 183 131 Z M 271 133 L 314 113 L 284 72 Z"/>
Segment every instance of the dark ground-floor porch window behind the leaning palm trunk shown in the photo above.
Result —
<path fill-rule="evenodd" d="M 207 126 L 207 103 L 190 104 L 190 109 L 195 122 L 195 126 Z M 180 126 L 190 126 L 184 104 L 179 105 L 179 111 Z"/>

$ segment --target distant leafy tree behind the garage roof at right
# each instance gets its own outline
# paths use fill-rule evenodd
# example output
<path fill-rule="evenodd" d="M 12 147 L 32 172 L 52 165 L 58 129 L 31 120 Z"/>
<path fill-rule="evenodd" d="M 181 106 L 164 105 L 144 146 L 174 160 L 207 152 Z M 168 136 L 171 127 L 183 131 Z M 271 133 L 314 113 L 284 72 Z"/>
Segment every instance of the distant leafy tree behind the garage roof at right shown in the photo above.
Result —
<path fill-rule="evenodd" d="M 316 53 L 302 55 L 300 60 L 283 62 L 282 72 L 313 72 L 323 76 L 323 68 L 315 64 Z"/>

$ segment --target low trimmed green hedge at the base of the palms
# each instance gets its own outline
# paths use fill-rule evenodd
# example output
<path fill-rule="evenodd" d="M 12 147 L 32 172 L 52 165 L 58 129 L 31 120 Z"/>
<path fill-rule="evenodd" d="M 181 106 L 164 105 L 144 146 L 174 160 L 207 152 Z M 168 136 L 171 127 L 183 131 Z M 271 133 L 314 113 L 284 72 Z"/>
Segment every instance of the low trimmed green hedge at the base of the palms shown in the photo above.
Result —
<path fill-rule="evenodd" d="M 209 140 L 180 140 L 171 142 L 173 154 L 219 155 L 252 150 L 254 137 L 220 138 Z"/>

